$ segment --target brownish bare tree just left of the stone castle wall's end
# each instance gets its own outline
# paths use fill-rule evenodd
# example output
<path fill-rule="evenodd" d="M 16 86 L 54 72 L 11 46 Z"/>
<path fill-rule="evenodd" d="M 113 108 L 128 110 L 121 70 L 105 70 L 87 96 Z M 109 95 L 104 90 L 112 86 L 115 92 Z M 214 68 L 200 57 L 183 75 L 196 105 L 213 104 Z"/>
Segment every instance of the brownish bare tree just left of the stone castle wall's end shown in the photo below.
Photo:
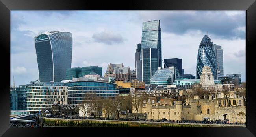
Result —
<path fill-rule="evenodd" d="M 137 119 L 137 115 L 139 112 L 139 107 L 143 105 L 143 101 L 148 100 L 148 95 L 146 93 L 139 93 L 138 90 L 135 90 L 132 94 L 132 110 L 135 110 L 136 115 L 135 119 Z"/>

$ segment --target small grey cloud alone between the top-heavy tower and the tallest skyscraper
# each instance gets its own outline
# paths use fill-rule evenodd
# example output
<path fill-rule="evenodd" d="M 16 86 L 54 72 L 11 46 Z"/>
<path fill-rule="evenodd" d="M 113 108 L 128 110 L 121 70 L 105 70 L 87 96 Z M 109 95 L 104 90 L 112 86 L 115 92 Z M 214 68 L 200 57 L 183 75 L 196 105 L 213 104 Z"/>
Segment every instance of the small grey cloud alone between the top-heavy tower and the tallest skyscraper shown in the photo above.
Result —
<path fill-rule="evenodd" d="M 119 34 L 114 34 L 113 32 L 103 31 L 100 33 L 93 34 L 93 40 L 98 43 L 105 43 L 111 45 L 113 43 L 123 43 L 124 38 Z"/>

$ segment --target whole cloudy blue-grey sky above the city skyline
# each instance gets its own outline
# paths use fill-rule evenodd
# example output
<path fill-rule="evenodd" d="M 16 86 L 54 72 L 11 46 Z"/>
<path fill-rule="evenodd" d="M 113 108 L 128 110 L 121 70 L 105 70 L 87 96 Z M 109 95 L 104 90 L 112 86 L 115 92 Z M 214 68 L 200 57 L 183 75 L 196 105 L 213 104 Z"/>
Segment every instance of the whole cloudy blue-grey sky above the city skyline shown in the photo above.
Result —
<path fill-rule="evenodd" d="M 45 31 L 71 32 L 71 67 L 109 63 L 135 69 L 142 22 L 160 20 L 162 59 L 180 58 L 184 74 L 196 76 L 197 53 L 205 34 L 223 49 L 224 76 L 240 73 L 246 80 L 245 11 L 11 11 L 10 85 L 39 79 L 33 37 Z"/>

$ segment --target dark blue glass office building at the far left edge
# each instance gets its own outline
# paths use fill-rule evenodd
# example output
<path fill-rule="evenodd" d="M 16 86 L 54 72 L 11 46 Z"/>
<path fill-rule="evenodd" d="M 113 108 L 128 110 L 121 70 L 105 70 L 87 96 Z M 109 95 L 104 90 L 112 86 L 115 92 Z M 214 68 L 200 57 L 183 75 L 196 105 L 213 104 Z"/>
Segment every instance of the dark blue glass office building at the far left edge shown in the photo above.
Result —
<path fill-rule="evenodd" d="M 26 85 L 10 87 L 10 110 L 27 110 Z"/>

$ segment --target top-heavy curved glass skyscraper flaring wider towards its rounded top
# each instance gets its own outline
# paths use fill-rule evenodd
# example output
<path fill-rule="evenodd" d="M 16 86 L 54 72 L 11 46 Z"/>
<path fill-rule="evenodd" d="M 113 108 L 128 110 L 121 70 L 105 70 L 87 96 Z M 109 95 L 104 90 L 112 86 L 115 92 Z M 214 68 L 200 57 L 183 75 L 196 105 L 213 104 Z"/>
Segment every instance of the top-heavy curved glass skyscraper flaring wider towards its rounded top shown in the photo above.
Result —
<path fill-rule="evenodd" d="M 34 37 L 40 82 L 61 82 L 71 67 L 72 34 L 51 31 Z"/>

